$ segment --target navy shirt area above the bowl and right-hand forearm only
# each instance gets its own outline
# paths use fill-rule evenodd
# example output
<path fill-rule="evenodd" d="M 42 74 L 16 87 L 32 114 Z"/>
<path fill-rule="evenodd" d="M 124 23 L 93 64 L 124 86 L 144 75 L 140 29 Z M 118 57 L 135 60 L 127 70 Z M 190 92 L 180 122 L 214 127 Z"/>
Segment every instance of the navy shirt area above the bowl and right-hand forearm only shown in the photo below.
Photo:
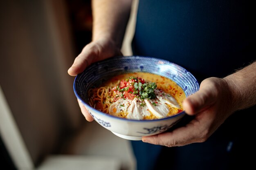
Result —
<path fill-rule="evenodd" d="M 179 64 L 199 82 L 256 59 L 255 10 L 243 0 L 140 0 L 134 55 Z"/>

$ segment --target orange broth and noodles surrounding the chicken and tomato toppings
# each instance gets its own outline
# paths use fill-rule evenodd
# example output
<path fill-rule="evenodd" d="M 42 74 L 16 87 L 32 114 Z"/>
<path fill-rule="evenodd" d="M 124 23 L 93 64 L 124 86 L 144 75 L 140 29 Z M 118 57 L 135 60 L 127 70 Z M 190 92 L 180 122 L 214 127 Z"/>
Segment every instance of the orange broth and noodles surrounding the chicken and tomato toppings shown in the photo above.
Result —
<path fill-rule="evenodd" d="M 157 89 L 162 90 L 164 93 L 169 94 L 176 99 L 177 103 L 180 105 L 180 108 L 178 109 L 168 105 L 170 111 L 167 117 L 183 111 L 182 102 L 186 98 L 186 96 L 182 88 L 171 79 L 153 73 L 145 72 L 126 73 L 117 75 L 115 77 L 110 78 L 106 82 L 103 82 L 103 84 L 99 86 L 99 88 L 90 89 L 88 92 L 90 100 L 89 104 L 93 108 L 103 113 L 109 114 L 108 108 L 112 103 L 115 102 L 114 97 L 117 95 L 116 92 L 112 89 L 115 86 L 117 86 L 121 80 L 128 79 L 131 76 L 143 78 L 146 82 L 155 82 L 155 84 L 157 85 Z M 126 117 L 124 113 L 116 114 L 114 116 L 122 118 Z M 151 113 L 151 116 L 146 116 L 144 117 L 144 119 L 157 119 L 157 117 L 155 117 Z"/>

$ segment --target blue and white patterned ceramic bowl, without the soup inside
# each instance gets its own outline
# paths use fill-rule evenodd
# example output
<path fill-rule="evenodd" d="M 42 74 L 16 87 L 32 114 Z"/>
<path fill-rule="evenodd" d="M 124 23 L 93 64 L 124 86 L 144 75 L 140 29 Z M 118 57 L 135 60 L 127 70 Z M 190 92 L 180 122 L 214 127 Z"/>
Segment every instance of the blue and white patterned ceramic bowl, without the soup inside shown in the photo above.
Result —
<path fill-rule="evenodd" d="M 88 90 L 99 86 L 115 75 L 148 72 L 172 79 L 185 92 L 186 97 L 199 90 L 195 77 L 185 68 L 159 58 L 128 56 L 112 57 L 90 65 L 74 80 L 74 93 L 88 109 L 95 121 L 115 135 L 129 140 L 141 140 L 143 136 L 156 135 L 171 128 L 185 112 L 156 120 L 130 120 L 114 117 L 92 108 L 88 104 Z"/>

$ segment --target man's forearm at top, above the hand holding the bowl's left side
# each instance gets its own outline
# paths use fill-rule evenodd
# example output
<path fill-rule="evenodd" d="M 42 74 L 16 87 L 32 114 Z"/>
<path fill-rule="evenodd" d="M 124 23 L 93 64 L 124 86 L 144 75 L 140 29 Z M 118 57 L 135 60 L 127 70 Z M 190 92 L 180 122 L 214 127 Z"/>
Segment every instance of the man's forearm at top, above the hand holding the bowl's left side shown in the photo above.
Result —
<path fill-rule="evenodd" d="M 132 0 L 92 0 L 92 41 L 113 40 L 121 48 Z"/>

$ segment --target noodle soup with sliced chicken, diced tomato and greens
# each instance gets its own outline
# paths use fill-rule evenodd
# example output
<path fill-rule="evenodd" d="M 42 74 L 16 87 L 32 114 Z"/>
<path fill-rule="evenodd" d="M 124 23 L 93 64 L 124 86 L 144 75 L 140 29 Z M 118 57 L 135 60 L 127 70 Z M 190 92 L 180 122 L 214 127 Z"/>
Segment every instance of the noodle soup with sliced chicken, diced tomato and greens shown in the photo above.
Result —
<path fill-rule="evenodd" d="M 126 119 L 150 120 L 183 111 L 185 93 L 171 79 L 152 73 L 117 75 L 89 90 L 90 105 Z"/>

